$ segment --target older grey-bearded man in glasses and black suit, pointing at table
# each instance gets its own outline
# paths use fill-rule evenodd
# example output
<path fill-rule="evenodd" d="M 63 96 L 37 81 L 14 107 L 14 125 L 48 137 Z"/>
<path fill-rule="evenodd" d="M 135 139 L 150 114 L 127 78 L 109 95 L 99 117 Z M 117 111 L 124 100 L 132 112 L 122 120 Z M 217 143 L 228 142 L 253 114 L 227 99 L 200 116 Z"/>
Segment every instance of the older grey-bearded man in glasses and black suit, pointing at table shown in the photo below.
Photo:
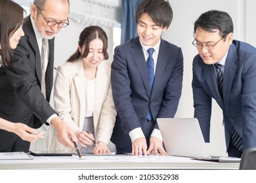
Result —
<path fill-rule="evenodd" d="M 66 27 L 70 3 L 68 0 L 35 0 L 31 14 L 25 18 L 25 36 L 20 40 L 12 65 L 0 70 L 0 117 L 22 122 L 33 128 L 48 123 L 56 127 L 58 140 L 74 148 L 77 141 L 49 104 L 53 86 L 54 36 Z M 4 95 L 4 96 L 3 96 Z M 70 137 L 68 137 L 70 136 Z M 28 152 L 30 142 L 0 131 L 0 152 Z"/>

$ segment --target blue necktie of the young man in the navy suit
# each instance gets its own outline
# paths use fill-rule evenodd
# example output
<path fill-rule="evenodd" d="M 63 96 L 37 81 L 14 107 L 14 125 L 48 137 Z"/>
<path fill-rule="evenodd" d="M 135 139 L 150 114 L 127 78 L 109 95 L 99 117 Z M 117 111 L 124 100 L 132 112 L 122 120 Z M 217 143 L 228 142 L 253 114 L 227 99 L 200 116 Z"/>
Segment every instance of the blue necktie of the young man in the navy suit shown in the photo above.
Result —
<path fill-rule="evenodd" d="M 153 52 L 154 48 L 149 48 L 148 49 L 148 59 L 146 60 L 146 68 L 148 69 L 148 81 L 149 81 L 149 87 L 150 87 L 150 92 L 152 90 L 153 82 L 154 82 L 154 59 L 153 59 Z M 148 121 L 152 120 L 152 114 L 151 111 L 148 111 L 148 114 L 146 116 L 146 119 Z"/>

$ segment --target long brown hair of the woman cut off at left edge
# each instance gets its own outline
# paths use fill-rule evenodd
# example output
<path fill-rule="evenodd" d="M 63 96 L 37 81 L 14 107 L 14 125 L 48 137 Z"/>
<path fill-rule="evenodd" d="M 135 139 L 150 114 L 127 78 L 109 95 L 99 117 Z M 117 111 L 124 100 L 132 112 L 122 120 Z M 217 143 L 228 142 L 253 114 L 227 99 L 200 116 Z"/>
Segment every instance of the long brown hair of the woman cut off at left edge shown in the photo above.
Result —
<path fill-rule="evenodd" d="M 1 64 L 7 66 L 12 62 L 10 37 L 23 24 L 24 8 L 11 0 L 0 1 L 0 56 Z"/>

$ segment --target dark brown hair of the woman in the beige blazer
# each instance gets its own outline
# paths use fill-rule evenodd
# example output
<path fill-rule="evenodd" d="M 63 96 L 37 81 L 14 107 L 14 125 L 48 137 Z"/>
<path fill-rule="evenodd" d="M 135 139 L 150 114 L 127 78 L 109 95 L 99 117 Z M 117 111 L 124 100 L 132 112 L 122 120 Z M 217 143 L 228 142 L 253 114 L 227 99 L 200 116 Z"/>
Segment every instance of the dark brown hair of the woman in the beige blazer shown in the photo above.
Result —
<path fill-rule="evenodd" d="M 94 39 L 100 39 L 103 42 L 103 55 L 104 59 L 108 59 L 108 37 L 105 33 L 105 31 L 97 26 L 97 25 L 91 25 L 89 27 L 85 27 L 83 31 L 79 35 L 79 41 L 78 45 L 80 48 L 83 48 L 85 46 L 85 51 L 83 53 L 79 52 L 79 49 L 77 48 L 76 52 L 70 56 L 70 58 L 67 61 L 74 62 L 76 59 L 79 58 L 86 58 L 89 54 L 89 44 Z"/>

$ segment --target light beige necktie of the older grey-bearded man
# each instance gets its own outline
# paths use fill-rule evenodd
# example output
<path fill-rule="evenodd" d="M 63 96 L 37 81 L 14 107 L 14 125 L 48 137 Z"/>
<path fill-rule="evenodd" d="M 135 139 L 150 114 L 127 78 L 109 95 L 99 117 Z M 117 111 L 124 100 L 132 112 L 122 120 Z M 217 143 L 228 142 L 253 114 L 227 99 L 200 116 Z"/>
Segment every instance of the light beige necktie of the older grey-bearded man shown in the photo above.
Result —
<path fill-rule="evenodd" d="M 48 40 L 43 38 L 42 39 L 42 48 L 41 48 L 41 73 L 42 73 L 42 80 L 41 80 L 41 92 L 43 96 L 46 98 L 45 92 L 45 52 L 47 50 Z"/>

